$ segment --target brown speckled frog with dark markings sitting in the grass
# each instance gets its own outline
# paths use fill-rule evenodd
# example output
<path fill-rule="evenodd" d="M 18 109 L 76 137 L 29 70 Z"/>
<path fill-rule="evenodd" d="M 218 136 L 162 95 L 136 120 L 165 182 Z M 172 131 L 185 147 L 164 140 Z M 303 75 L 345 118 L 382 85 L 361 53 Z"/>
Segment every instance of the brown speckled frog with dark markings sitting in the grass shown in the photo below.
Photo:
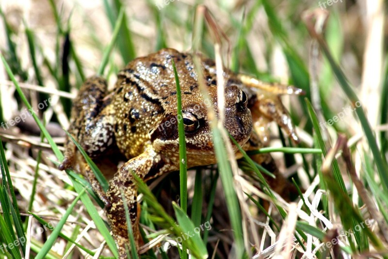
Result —
<path fill-rule="evenodd" d="M 204 81 L 213 105 L 217 105 L 217 69 L 215 62 L 200 56 Z M 173 71 L 176 64 L 181 91 L 182 120 L 186 139 L 187 168 L 217 162 L 212 141 L 211 121 L 207 103 L 198 85 L 193 55 L 166 48 L 138 57 L 118 72 L 117 82 L 108 89 L 107 81 L 99 76 L 87 79 L 73 102 L 69 134 L 87 155 L 111 176 L 105 192 L 70 138 L 65 141 L 65 158 L 60 170 L 74 169 L 82 173 L 105 204 L 108 223 L 118 247 L 119 258 L 127 258 L 128 226 L 121 195 L 123 190 L 137 248 L 142 243 L 139 231 L 137 186 L 133 173 L 148 181 L 165 173 L 179 170 L 177 88 Z M 222 68 L 225 77 L 224 127 L 244 151 L 258 150 L 270 140 L 268 124 L 275 121 L 298 141 L 295 127 L 281 102 L 283 94 L 301 94 L 294 86 L 264 83 L 246 74 Z M 209 105 L 209 104 L 208 104 Z M 232 145 L 237 158 L 242 157 L 237 145 Z M 119 167 L 114 158 L 126 162 Z M 108 159 L 106 159 L 108 158 Z M 251 158 L 275 173 L 272 184 L 278 193 L 287 192 L 287 181 L 276 167 L 270 154 Z M 113 159 L 113 160 L 112 160 Z"/>

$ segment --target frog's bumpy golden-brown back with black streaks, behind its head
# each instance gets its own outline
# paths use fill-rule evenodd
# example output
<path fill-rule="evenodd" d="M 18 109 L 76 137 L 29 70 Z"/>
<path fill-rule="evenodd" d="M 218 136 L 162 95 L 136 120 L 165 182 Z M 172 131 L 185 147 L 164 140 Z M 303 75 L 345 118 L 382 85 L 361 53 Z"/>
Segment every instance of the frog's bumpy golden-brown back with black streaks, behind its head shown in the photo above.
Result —
<path fill-rule="evenodd" d="M 163 49 L 131 61 L 119 72 L 112 99 L 116 143 L 127 157 L 141 154 L 146 145 L 152 144 L 151 135 L 162 120 L 177 113 L 171 58 L 178 70 L 182 104 L 201 102 L 190 55 Z M 167 138 L 176 134 L 169 127 L 159 130 Z"/>

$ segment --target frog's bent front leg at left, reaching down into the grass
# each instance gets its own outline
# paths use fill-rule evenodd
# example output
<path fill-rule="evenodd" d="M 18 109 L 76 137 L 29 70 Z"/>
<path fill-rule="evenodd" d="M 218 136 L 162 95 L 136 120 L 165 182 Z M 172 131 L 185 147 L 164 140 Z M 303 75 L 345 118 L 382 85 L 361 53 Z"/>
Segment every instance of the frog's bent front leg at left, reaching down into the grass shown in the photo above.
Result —
<path fill-rule="evenodd" d="M 125 248 L 126 245 L 129 246 L 128 226 L 120 189 L 124 191 L 129 208 L 133 236 L 138 246 L 139 242 L 141 242 L 141 236 L 137 207 L 137 186 L 132 172 L 146 181 L 174 170 L 178 170 L 177 166 L 168 157 L 154 151 L 153 147 L 149 144 L 144 153 L 130 159 L 113 176 L 113 179 L 109 183 L 109 190 L 107 191 L 109 204 L 106 206 L 106 213 L 113 231 L 113 236 L 119 248 L 120 258 L 127 258 Z"/>

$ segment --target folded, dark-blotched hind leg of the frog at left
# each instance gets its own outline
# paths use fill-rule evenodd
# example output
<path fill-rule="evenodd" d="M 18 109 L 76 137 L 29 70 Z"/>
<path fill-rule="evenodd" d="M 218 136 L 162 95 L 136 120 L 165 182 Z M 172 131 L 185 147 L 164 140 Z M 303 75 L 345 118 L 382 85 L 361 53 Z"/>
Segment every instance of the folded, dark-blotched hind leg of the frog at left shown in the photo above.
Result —
<path fill-rule="evenodd" d="M 93 159 L 114 143 L 113 116 L 108 109 L 107 83 L 100 77 L 92 77 L 81 86 L 73 102 L 69 133 Z M 73 141 L 65 141 L 65 158 L 60 170 L 73 168 L 87 177 L 93 190 L 106 203 L 106 196 L 94 173 L 77 150 Z"/>

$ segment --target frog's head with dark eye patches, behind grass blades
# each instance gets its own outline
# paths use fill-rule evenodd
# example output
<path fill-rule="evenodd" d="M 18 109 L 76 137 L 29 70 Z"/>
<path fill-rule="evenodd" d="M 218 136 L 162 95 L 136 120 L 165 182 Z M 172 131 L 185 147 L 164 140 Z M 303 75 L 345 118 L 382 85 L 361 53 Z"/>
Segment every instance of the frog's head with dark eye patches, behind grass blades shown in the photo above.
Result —
<path fill-rule="evenodd" d="M 218 117 L 217 87 L 208 87 L 210 102 Z M 203 100 L 198 88 L 190 95 L 182 94 L 182 118 L 177 109 L 166 113 L 159 126 L 152 132 L 151 140 L 156 150 L 172 151 L 178 154 L 178 120 L 184 124 L 187 155 L 209 160 L 214 159 L 213 141 L 208 109 L 210 105 Z M 225 123 L 230 135 L 242 146 L 252 132 L 252 116 L 247 108 L 247 96 L 238 86 L 225 88 Z M 237 150 L 237 147 L 235 147 Z M 198 164 L 204 164 L 203 161 Z"/>

